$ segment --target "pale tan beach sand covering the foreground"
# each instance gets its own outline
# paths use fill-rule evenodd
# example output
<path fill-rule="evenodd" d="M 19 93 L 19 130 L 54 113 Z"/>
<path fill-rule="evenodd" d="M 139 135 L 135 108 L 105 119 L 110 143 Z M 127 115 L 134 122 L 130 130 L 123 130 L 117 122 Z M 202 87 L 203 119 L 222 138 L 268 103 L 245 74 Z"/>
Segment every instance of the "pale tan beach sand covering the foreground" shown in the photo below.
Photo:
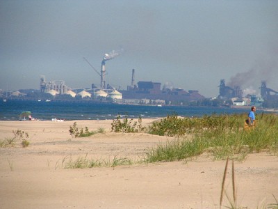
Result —
<path fill-rule="evenodd" d="M 153 119 L 143 119 L 148 125 Z M 76 121 L 106 130 L 72 138 L 74 121 L 0 121 L 0 141 L 28 132 L 30 145 L 0 148 L 0 208 L 219 208 L 225 162 L 202 155 L 190 161 L 65 169 L 79 157 L 109 162 L 142 160 L 149 148 L 175 140 L 145 133 L 111 132 L 112 121 Z M 278 157 L 254 153 L 235 162 L 238 206 L 256 208 L 278 199 Z M 231 162 L 227 196 L 232 198 Z M 224 198 L 224 206 L 229 201 Z"/>

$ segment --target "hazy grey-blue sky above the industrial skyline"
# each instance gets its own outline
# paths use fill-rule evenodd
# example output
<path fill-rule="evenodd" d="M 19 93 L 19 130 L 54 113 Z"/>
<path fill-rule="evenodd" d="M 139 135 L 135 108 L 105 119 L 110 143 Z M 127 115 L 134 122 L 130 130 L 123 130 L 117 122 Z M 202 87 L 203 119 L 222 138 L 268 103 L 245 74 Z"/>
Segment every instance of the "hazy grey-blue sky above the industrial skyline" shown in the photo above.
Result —
<path fill-rule="evenodd" d="M 259 93 L 278 91 L 278 1 L 0 1 L 0 88 L 40 88 L 65 80 L 71 88 L 135 82 L 219 94 L 220 79 Z"/>

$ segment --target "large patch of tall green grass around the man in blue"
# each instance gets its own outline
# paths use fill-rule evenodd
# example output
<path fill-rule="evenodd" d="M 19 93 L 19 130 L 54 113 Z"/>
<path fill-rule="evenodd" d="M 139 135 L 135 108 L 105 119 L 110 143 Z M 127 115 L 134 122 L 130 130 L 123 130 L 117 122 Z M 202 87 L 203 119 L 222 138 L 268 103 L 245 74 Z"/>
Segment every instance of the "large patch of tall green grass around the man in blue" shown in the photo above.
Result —
<path fill-rule="evenodd" d="M 256 127 L 245 130 L 245 115 L 167 116 L 150 125 L 149 133 L 176 136 L 177 140 L 148 150 L 147 162 L 183 160 L 204 152 L 213 153 L 215 160 L 244 160 L 248 153 L 263 150 L 277 155 L 278 116 L 259 114 L 257 118 Z"/>

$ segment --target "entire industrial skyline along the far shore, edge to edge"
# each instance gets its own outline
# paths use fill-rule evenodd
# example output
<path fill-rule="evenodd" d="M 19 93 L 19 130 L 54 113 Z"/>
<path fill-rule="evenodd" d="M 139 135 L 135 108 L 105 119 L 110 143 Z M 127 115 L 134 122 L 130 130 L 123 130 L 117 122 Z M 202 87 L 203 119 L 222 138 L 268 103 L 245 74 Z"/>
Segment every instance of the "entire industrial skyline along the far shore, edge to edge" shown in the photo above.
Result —
<path fill-rule="evenodd" d="M 90 62 L 84 60 L 100 76 L 99 87 L 92 84 L 90 88 L 74 89 L 65 84 L 63 80 L 52 80 L 47 82 L 44 75 L 40 77 L 39 90 L 20 90 L 15 92 L 2 91 L 0 97 L 3 100 L 29 99 L 29 100 L 97 100 L 101 102 L 117 102 L 124 104 L 155 104 L 155 105 L 207 105 L 202 100 L 213 100 L 212 106 L 265 106 L 278 107 L 278 91 L 267 87 L 266 81 L 261 82 L 261 95 L 244 95 L 241 86 L 227 86 L 224 79 L 220 80 L 219 95 L 217 98 L 205 98 L 198 90 L 183 90 L 163 85 L 160 82 L 138 81 L 135 82 L 135 70 L 131 70 L 131 85 L 124 89 L 115 89 L 110 84 L 106 84 L 106 61 L 109 61 L 120 52 L 112 51 L 104 54 L 101 61 L 101 70 L 96 70 Z M 199 102 L 199 103 L 198 103 Z"/>

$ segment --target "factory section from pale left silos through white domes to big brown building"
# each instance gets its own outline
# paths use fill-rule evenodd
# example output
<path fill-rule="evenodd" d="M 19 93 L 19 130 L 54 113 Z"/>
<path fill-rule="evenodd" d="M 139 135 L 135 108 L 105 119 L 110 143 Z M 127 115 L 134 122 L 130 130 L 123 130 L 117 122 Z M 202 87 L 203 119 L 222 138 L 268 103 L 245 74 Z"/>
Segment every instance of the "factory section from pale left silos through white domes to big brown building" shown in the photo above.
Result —
<path fill-rule="evenodd" d="M 115 89 L 110 84 L 106 84 L 106 61 L 114 59 L 120 52 L 112 51 L 104 54 L 101 61 L 101 70 L 97 71 L 91 63 L 83 58 L 90 67 L 100 76 L 100 85 L 92 84 L 91 88 L 72 89 L 65 85 L 65 81 L 47 82 L 44 75 L 40 78 L 40 93 L 48 93 L 56 97 L 57 95 L 70 95 L 72 98 L 82 98 L 87 100 L 112 100 L 121 103 L 133 104 L 183 104 L 183 102 L 197 101 L 204 99 L 197 90 L 185 91 L 181 88 L 161 88 L 160 82 L 139 81 L 135 83 L 135 70 L 131 72 L 131 85 L 126 90 Z M 65 96 L 63 98 L 66 98 Z M 68 97 L 67 97 L 68 98 Z"/>

